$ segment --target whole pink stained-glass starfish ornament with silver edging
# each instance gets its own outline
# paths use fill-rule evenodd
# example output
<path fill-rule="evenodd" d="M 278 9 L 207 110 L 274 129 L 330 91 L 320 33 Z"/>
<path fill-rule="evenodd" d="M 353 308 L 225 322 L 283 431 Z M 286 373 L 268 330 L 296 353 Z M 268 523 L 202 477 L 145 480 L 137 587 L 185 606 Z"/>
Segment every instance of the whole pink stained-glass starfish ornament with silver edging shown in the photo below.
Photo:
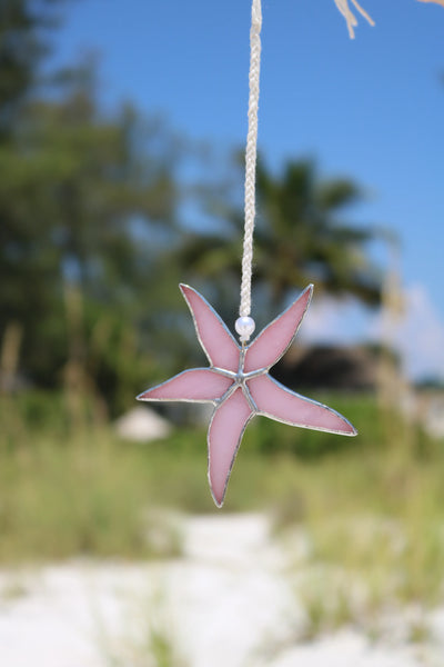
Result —
<path fill-rule="evenodd" d="M 193 288 L 180 289 L 193 316 L 209 368 L 184 370 L 138 396 L 139 400 L 182 400 L 214 404 L 208 431 L 209 481 L 221 507 L 243 432 L 255 415 L 302 428 L 355 436 L 339 412 L 291 391 L 269 371 L 295 337 L 309 307 L 310 285 L 249 346 L 239 346 L 210 303 Z"/>

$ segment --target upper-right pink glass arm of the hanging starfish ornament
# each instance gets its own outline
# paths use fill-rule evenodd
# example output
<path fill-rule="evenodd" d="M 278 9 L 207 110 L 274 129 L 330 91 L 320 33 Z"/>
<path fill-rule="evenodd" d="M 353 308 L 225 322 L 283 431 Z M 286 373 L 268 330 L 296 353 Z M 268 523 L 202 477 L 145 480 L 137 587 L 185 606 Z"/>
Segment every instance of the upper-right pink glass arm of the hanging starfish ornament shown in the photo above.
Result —
<path fill-rule="evenodd" d="M 270 322 L 253 340 L 245 354 L 245 372 L 258 368 L 270 368 L 284 355 L 297 334 L 302 318 L 309 308 L 312 292 L 313 286 L 309 285 L 299 299 Z"/>

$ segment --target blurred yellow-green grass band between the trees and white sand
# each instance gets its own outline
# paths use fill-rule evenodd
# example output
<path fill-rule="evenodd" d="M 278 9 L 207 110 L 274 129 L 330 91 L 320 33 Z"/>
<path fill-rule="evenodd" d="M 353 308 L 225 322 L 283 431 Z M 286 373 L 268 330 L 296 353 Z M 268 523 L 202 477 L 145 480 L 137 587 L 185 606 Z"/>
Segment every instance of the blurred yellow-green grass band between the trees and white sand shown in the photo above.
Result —
<path fill-rule="evenodd" d="M 165 441 L 140 446 L 93 424 L 72 434 L 60 396 L 3 401 L 2 422 L 12 409 L 16 416 L 0 446 L 1 561 L 173 555 L 180 537 L 159 507 L 219 511 L 208 488 L 204 428 L 182 428 Z M 334 445 L 315 457 L 304 446 L 309 431 L 286 434 L 276 425 L 279 432 L 269 432 L 273 447 L 264 448 L 265 420 L 253 420 L 224 511 L 266 510 L 281 532 L 302 528 L 312 564 L 365 577 L 369 608 L 387 590 L 401 601 L 436 600 L 436 581 L 444 579 L 441 444 L 422 434 L 424 457 L 402 430 L 394 440 L 381 435 L 373 400 L 331 396 L 330 401 L 364 435 L 343 438 L 346 447 Z M 167 531 L 162 539 L 159 527 Z"/>

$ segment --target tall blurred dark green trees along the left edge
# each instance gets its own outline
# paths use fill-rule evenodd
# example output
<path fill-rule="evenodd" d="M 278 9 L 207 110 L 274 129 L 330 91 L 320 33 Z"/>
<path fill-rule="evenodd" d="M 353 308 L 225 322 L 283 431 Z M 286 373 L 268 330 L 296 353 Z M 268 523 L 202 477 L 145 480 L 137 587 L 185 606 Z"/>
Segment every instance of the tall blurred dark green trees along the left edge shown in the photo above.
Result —
<path fill-rule="evenodd" d="M 134 360 L 141 335 L 155 345 L 142 307 L 161 267 L 153 229 L 175 215 L 176 141 L 129 106 L 105 117 L 89 62 L 37 86 L 53 13 L 44 0 L 0 11 L 0 335 L 20 327 L 32 382 L 61 385 L 77 365 L 82 391 L 114 411 L 122 389 L 135 394 L 155 372 L 147 356 Z"/>

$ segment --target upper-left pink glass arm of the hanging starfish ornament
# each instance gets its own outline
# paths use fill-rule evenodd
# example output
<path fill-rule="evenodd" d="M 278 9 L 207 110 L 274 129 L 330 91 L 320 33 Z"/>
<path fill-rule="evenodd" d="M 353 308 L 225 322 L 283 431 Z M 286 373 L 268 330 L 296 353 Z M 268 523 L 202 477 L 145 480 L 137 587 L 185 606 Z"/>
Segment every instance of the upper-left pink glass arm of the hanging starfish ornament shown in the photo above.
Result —
<path fill-rule="evenodd" d="M 199 342 L 212 366 L 238 371 L 240 347 L 210 303 L 192 287 L 180 285 L 191 310 Z"/>

